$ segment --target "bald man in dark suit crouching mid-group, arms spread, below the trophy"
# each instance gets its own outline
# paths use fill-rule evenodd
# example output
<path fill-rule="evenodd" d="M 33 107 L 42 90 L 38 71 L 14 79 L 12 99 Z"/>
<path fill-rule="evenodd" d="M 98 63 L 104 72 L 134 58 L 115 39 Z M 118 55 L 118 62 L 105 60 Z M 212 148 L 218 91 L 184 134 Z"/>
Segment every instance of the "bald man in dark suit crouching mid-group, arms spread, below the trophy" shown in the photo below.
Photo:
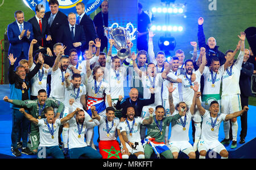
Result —
<path fill-rule="evenodd" d="M 117 110 L 124 109 L 126 106 L 133 105 L 135 107 L 135 117 L 140 117 L 143 106 L 151 105 L 155 103 L 155 93 L 151 93 L 150 99 L 141 99 L 138 98 L 139 92 L 138 89 L 132 88 L 129 92 L 129 98 L 123 99 L 119 97 L 117 105 L 115 108 Z M 121 102 L 122 101 L 122 102 Z"/>

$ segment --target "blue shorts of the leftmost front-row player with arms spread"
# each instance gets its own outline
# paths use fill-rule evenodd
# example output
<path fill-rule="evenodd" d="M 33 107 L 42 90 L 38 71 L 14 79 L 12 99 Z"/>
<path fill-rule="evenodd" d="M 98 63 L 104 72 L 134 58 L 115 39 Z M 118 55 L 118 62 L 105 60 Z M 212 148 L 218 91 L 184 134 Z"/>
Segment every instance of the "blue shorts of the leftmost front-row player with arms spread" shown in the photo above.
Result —
<path fill-rule="evenodd" d="M 47 158 L 48 156 L 52 156 L 56 159 L 64 159 L 63 152 L 60 150 L 59 146 L 51 146 L 51 147 L 38 147 L 38 159 Z"/>

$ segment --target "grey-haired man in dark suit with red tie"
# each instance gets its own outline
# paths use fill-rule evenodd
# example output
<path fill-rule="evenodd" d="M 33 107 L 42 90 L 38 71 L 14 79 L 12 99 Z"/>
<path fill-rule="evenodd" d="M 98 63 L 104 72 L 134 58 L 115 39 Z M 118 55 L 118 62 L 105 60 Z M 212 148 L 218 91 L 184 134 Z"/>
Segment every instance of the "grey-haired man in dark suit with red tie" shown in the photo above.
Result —
<path fill-rule="evenodd" d="M 29 19 L 28 22 L 32 24 L 34 39 L 38 42 L 34 44 L 33 48 L 33 56 L 39 49 L 46 48 L 47 55 L 52 56 L 51 49 L 48 47 L 48 42 L 46 41 L 47 32 L 47 20 L 44 18 L 44 14 L 46 12 L 46 8 L 42 4 L 38 4 L 35 7 L 36 15 Z"/>

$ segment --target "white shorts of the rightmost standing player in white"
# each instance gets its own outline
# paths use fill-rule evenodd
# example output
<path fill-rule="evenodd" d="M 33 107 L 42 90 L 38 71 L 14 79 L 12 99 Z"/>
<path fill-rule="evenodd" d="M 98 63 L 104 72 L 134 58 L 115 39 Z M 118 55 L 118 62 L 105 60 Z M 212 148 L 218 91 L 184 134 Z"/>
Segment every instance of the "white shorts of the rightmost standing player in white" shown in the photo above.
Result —
<path fill-rule="evenodd" d="M 221 113 L 230 114 L 242 110 L 240 94 L 221 97 Z"/>

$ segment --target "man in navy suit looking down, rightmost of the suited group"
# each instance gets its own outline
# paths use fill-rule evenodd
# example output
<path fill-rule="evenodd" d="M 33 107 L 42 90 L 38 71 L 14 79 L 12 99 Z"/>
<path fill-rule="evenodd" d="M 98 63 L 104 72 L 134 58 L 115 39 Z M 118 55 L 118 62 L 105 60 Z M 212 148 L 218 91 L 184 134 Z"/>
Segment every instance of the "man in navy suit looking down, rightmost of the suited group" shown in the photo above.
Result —
<path fill-rule="evenodd" d="M 86 15 L 85 5 L 82 2 L 76 4 L 76 13 L 78 15 L 77 24 L 84 27 L 84 34 L 86 38 L 86 43 L 82 47 L 81 51 L 84 52 L 85 49 L 89 48 L 89 42 L 94 41 L 97 38 L 96 30 L 94 27 L 93 20 Z"/>

